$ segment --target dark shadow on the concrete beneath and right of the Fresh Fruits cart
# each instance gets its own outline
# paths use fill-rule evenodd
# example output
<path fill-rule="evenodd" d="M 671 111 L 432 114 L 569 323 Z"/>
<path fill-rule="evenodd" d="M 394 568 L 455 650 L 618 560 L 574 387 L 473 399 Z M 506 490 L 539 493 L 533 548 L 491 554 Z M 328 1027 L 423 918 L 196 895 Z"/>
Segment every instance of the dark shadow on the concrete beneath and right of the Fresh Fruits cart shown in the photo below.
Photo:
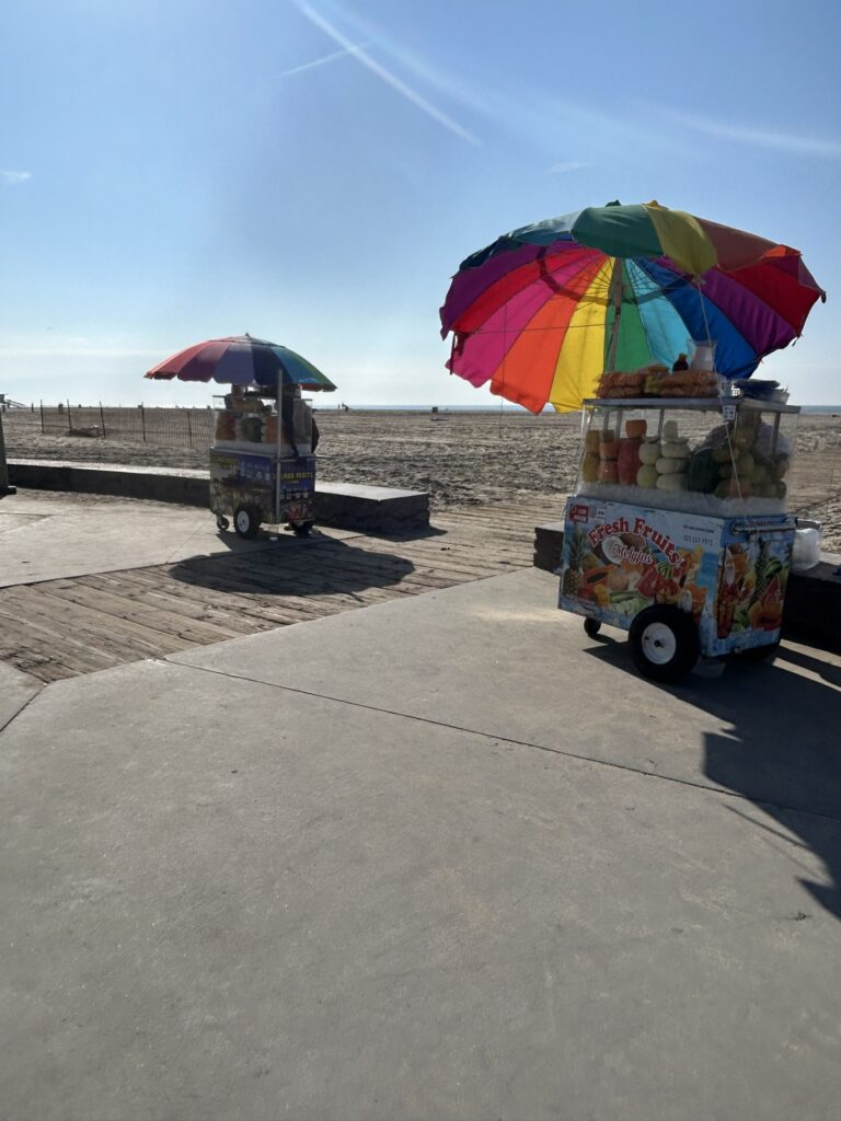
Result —
<path fill-rule="evenodd" d="M 595 641 L 588 651 L 593 657 L 636 673 L 627 641 L 601 634 Z M 805 873 L 797 877 L 802 886 L 841 918 L 841 669 L 820 648 L 811 649 L 814 654 L 798 640 L 797 649 L 780 647 L 774 663 L 734 659 L 714 679 L 692 674 L 664 688 L 729 725 L 726 732 L 704 735 L 704 776 L 761 810 L 765 822 L 730 807 L 769 843 L 785 846 Z M 768 817 L 779 832 L 767 824 Z M 825 883 L 811 878 L 798 850 L 820 858 Z"/>

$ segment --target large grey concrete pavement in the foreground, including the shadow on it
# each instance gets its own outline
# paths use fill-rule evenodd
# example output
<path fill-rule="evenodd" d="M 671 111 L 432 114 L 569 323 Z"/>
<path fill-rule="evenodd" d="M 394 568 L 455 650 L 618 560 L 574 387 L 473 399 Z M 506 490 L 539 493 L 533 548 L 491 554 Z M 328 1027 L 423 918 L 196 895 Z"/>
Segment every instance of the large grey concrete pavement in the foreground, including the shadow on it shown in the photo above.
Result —
<path fill-rule="evenodd" d="M 3 1113 L 837 1117 L 841 659 L 657 688 L 555 590 L 30 700 L 0 733 Z"/>

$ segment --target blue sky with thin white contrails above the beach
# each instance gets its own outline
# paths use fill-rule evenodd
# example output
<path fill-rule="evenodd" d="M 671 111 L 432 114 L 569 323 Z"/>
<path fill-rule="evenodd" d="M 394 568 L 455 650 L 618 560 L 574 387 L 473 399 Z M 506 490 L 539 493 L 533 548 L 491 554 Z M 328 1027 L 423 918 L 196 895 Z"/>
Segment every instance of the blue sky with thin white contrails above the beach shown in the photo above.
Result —
<path fill-rule="evenodd" d="M 462 258 L 656 198 L 803 251 L 828 303 L 763 376 L 837 404 L 839 12 L 3 0 L 0 390 L 206 404 L 142 373 L 249 331 L 351 405 L 492 404 L 444 369 Z"/>

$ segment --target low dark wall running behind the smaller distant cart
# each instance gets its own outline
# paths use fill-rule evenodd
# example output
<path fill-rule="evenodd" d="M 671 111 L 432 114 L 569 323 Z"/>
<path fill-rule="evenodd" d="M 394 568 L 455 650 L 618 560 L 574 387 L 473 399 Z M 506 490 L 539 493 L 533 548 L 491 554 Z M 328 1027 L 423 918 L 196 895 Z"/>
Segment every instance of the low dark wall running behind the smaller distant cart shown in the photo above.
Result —
<path fill-rule="evenodd" d="M 82 494 L 115 494 L 122 498 L 210 506 L 205 471 L 163 471 L 92 464 L 34 462 L 9 463 L 11 480 L 33 490 L 73 491 Z M 429 495 L 424 491 L 353 483 L 318 482 L 315 520 L 323 526 L 367 532 L 399 534 L 429 525 Z"/>

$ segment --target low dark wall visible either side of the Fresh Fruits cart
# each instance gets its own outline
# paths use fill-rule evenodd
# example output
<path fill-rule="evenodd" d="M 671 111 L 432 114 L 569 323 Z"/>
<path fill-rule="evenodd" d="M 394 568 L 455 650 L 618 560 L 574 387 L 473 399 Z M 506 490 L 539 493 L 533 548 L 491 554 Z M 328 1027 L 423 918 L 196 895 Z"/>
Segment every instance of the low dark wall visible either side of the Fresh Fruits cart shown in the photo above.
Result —
<path fill-rule="evenodd" d="M 560 568 L 563 544 L 563 521 L 536 526 L 535 567 L 546 572 Z M 821 563 L 814 568 L 791 574 L 783 611 L 783 634 L 807 638 L 830 650 L 841 650 L 841 557 L 822 554 Z"/>

